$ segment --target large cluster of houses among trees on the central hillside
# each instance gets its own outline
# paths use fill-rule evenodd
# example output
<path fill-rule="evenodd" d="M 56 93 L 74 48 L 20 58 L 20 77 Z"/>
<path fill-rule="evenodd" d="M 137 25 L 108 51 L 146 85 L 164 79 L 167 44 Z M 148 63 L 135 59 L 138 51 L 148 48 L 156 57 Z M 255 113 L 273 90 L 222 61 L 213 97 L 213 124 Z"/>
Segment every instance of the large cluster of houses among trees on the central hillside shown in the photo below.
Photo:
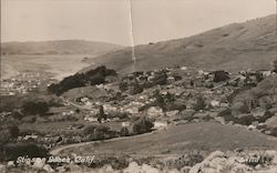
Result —
<path fill-rule="evenodd" d="M 109 116 L 107 122 L 122 122 L 122 126 L 132 125 L 131 121 L 122 121 L 116 114 L 127 114 L 130 120 L 132 116 L 146 115 L 154 121 L 155 129 L 166 129 L 170 123 L 178 119 L 179 114 L 184 112 L 194 112 L 193 105 L 195 99 L 202 95 L 205 99 L 206 105 L 211 110 L 219 108 L 228 108 L 229 102 L 227 96 L 236 89 L 246 84 L 256 84 L 264 77 L 275 75 L 270 71 L 243 71 L 237 74 L 227 73 L 225 71 L 206 72 L 203 70 L 196 71 L 187 67 L 167 68 L 165 70 L 155 70 L 150 72 L 134 72 L 123 78 L 123 81 L 131 85 L 142 84 L 144 82 L 155 83 L 154 85 L 144 86 L 143 90 L 136 94 L 127 93 L 124 100 L 114 102 L 92 101 L 84 96 L 80 99 L 79 104 L 85 108 L 85 121 L 98 122 L 99 106 L 102 105 L 105 114 Z M 96 85 L 102 90 L 113 90 L 111 83 Z M 185 102 L 185 110 L 173 109 L 165 111 L 163 108 L 153 104 L 156 100 L 153 93 L 158 90 L 163 98 L 173 95 L 176 100 Z M 120 89 L 116 90 L 119 92 Z M 121 91 L 124 93 L 124 91 Z M 109 95 L 107 95 L 109 96 Z M 146 109 L 142 109 L 145 105 Z M 188 113 L 189 114 L 189 113 Z M 198 112 L 198 116 L 205 116 L 205 112 Z"/>

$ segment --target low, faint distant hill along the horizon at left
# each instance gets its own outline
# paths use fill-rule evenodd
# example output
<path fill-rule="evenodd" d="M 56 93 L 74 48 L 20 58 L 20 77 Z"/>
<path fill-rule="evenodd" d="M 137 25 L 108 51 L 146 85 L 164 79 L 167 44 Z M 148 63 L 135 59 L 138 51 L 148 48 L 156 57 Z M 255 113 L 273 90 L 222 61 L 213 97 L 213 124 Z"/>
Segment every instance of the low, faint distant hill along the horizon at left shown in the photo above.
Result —
<path fill-rule="evenodd" d="M 122 47 L 84 40 L 28 41 L 1 43 L 1 54 L 104 54 Z"/>

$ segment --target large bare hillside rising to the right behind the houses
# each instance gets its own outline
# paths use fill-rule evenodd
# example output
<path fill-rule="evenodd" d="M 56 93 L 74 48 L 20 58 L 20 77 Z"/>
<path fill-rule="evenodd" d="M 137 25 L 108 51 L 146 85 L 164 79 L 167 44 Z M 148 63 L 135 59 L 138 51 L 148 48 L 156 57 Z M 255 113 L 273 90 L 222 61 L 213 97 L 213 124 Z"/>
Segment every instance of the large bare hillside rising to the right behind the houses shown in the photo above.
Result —
<path fill-rule="evenodd" d="M 276 14 L 233 23 L 189 38 L 135 47 L 135 70 L 193 65 L 204 70 L 263 70 L 276 59 Z M 133 70 L 131 48 L 93 59 L 121 72 Z"/>

